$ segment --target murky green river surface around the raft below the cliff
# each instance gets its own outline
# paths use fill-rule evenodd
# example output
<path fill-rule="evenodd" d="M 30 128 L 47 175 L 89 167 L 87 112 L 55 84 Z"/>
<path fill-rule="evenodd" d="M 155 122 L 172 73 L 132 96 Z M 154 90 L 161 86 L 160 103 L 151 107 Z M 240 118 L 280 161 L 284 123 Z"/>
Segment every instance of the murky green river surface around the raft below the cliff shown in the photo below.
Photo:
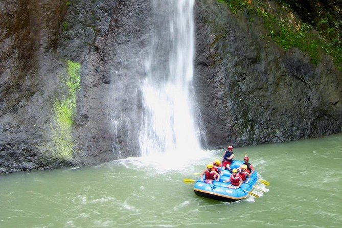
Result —
<path fill-rule="evenodd" d="M 182 181 L 223 151 L 0 175 L 0 227 L 341 227 L 342 134 L 234 148 L 270 182 L 234 203 Z"/>

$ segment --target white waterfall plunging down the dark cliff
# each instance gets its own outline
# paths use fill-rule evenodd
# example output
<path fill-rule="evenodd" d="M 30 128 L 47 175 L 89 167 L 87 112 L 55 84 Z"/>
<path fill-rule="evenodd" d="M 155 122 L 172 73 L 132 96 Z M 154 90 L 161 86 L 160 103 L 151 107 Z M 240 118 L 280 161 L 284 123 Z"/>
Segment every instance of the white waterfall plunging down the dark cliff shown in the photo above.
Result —
<path fill-rule="evenodd" d="M 142 83 L 141 155 L 197 152 L 194 61 L 194 0 L 153 0 L 153 38 Z"/>

